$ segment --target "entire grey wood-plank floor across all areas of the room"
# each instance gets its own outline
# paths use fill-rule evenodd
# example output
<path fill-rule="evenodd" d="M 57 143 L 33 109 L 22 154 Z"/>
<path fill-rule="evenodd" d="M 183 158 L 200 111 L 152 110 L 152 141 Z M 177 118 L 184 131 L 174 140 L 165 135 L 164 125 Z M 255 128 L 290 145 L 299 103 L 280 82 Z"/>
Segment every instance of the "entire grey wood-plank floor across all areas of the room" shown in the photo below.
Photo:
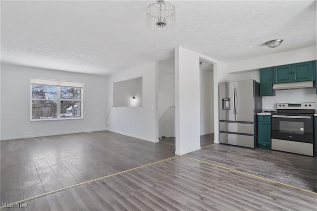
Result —
<path fill-rule="evenodd" d="M 201 137 L 202 147 L 212 143 L 213 134 Z M 1 141 L 1 202 L 139 167 L 173 157 L 174 152 L 171 138 L 151 143 L 111 132 Z M 4 211 L 316 210 L 316 157 L 224 144 L 185 156 L 29 200 L 25 209 Z"/>

